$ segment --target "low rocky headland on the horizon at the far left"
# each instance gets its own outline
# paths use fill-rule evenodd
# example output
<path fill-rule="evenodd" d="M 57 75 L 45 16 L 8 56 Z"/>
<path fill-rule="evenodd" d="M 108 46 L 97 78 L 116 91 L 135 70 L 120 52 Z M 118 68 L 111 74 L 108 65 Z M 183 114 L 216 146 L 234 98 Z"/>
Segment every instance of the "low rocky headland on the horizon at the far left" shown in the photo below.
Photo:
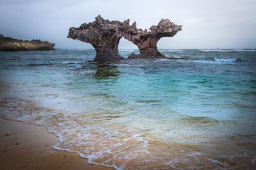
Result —
<path fill-rule="evenodd" d="M 0 34 L 0 51 L 18 52 L 18 51 L 50 51 L 55 44 L 48 41 L 40 41 L 39 39 L 20 40 L 9 37 L 4 37 Z"/>

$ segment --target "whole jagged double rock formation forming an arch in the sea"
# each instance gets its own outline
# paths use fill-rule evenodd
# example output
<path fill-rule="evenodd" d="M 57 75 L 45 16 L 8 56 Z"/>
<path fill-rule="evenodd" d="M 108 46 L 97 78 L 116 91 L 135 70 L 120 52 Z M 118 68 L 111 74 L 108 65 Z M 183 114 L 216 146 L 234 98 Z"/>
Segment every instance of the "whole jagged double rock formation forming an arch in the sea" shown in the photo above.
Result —
<path fill-rule="evenodd" d="M 166 57 L 157 50 L 157 41 L 162 37 L 174 36 L 182 27 L 162 19 L 158 25 L 152 25 L 150 31 L 143 31 L 136 27 L 136 22 L 132 25 L 129 22 L 129 19 L 124 22 L 104 20 L 99 15 L 92 23 L 84 23 L 78 28 L 71 27 L 68 38 L 92 44 L 96 50 L 93 62 L 124 60 L 118 53 L 118 43 L 122 37 L 137 45 L 140 50 L 140 54 L 131 53 L 128 59 L 158 59 Z"/>

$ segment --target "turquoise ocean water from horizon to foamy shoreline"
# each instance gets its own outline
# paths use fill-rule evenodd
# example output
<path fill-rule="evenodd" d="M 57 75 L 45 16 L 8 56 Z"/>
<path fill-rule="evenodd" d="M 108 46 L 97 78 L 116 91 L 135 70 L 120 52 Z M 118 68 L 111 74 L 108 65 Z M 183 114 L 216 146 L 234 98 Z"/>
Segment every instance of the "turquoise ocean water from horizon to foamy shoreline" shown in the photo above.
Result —
<path fill-rule="evenodd" d="M 86 63 L 94 50 L 0 52 L 0 117 L 45 125 L 55 149 L 90 164 L 255 168 L 256 50 L 159 51 L 188 60 L 104 65 Z"/>

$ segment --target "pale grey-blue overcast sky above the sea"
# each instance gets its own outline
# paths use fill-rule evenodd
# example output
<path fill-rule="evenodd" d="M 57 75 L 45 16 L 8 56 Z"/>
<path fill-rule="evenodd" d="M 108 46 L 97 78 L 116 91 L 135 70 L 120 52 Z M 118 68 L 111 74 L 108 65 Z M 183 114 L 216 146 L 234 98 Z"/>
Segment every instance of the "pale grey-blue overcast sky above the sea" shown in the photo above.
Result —
<path fill-rule="evenodd" d="M 93 48 L 67 38 L 70 27 L 104 19 L 130 18 L 141 29 L 168 18 L 182 25 L 158 48 L 256 48 L 255 0 L 0 0 L 0 34 L 42 39 L 55 48 Z M 118 48 L 137 48 L 122 38 Z"/>

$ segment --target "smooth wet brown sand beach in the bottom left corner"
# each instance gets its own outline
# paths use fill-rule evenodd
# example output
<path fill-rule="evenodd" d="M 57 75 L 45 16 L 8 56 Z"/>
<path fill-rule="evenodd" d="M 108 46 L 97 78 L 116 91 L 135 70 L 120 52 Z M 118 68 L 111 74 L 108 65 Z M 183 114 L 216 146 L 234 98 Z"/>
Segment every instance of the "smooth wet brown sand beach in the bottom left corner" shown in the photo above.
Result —
<path fill-rule="evenodd" d="M 57 143 L 45 127 L 0 118 L 0 169 L 113 169 L 52 149 Z"/>

